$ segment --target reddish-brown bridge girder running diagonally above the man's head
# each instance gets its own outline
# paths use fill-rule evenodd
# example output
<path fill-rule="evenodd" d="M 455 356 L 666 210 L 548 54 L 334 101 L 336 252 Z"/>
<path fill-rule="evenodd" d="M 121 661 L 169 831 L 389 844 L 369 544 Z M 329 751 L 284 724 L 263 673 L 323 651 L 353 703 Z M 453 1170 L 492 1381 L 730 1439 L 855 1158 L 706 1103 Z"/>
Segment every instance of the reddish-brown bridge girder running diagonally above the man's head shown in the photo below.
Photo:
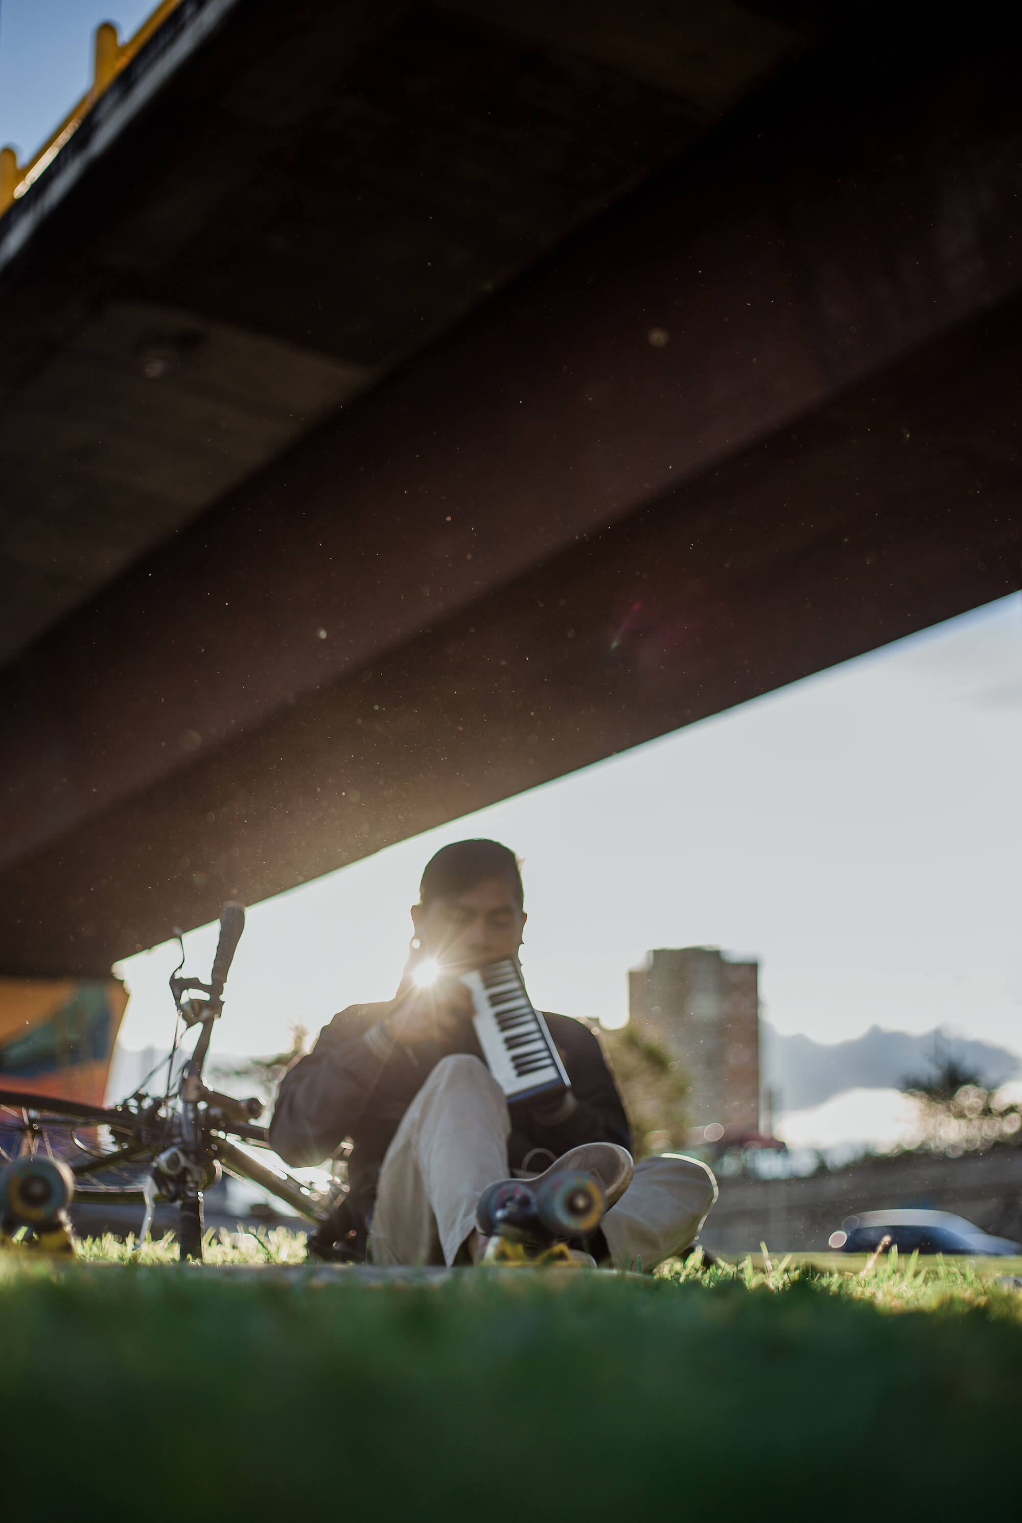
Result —
<path fill-rule="evenodd" d="M 0 675 L 0 966 L 105 970 L 1020 585 L 1010 50 L 885 14 Z"/>

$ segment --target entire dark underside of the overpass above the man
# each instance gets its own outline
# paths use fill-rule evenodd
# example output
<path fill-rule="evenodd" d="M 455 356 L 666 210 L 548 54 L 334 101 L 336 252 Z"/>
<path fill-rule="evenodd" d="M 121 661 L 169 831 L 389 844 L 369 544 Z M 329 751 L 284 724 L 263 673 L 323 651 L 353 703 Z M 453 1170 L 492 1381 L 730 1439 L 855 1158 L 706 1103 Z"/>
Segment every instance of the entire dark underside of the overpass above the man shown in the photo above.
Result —
<path fill-rule="evenodd" d="M 0 969 L 1022 585 L 1001 9 L 183 0 L 0 218 Z"/>

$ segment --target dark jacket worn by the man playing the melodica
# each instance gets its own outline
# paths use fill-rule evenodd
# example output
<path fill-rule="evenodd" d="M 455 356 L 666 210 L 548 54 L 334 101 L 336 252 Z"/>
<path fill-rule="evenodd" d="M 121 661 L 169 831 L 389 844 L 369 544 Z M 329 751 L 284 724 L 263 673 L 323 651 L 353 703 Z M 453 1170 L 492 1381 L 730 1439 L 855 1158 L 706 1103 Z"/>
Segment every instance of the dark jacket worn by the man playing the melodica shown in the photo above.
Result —
<path fill-rule="evenodd" d="M 350 1138 L 349 1203 L 362 1224 L 384 1153 L 430 1071 L 451 1052 L 483 1057 L 468 1023 L 455 1042 L 419 1045 L 413 1052 L 376 1025 L 390 1008 L 350 1005 L 334 1016 L 309 1055 L 285 1075 L 270 1122 L 270 1145 L 294 1167 L 320 1164 Z M 547 1025 L 571 1080 L 570 1098 L 512 1106 L 510 1168 L 525 1167 L 536 1148 L 544 1153 L 529 1167 L 538 1171 L 580 1142 L 631 1148 L 624 1106 L 592 1031 L 568 1016 L 547 1014 Z"/>

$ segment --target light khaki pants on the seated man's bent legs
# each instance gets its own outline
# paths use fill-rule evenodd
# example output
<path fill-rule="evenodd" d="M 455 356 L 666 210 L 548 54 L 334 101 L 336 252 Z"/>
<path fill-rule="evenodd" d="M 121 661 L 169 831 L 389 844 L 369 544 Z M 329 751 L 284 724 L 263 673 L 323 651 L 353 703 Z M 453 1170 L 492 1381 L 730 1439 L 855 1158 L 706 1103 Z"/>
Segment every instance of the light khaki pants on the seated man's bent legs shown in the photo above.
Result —
<path fill-rule="evenodd" d="M 387 1148 L 369 1234 L 376 1264 L 452 1264 L 475 1226 L 475 1202 L 507 1179 L 510 1116 L 504 1092 L 477 1057 L 442 1058 Z M 664 1153 L 603 1217 L 617 1269 L 653 1269 L 696 1238 L 717 1199 L 705 1164 Z"/>

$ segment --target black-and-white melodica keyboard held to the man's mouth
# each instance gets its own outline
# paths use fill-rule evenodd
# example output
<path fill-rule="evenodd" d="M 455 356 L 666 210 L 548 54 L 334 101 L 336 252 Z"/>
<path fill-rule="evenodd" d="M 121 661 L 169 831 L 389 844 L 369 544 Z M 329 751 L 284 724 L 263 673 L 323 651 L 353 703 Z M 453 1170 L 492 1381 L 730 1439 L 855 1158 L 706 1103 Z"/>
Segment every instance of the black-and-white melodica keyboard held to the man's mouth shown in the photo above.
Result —
<path fill-rule="evenodd" d="M 547 1022 L 533 1007 L 515 958 L 463 973 L 475 1004 L 472 1023 L 483 1057 L 510 1100 L 571 1087 Z"/>

